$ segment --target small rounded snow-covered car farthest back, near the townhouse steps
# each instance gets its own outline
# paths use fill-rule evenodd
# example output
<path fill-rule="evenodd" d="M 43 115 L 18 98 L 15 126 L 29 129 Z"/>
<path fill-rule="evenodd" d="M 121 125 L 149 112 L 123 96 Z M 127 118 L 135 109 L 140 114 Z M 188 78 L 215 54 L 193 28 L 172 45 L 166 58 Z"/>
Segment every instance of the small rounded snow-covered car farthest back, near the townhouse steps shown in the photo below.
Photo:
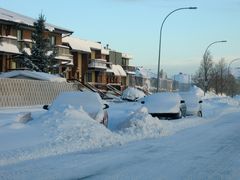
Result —
<path fill-rule="evenodd" d="M 122 99 L 136 101 L 145 96 L 145 93 L 134 87 L 128 87 L 122 93 Z"/>

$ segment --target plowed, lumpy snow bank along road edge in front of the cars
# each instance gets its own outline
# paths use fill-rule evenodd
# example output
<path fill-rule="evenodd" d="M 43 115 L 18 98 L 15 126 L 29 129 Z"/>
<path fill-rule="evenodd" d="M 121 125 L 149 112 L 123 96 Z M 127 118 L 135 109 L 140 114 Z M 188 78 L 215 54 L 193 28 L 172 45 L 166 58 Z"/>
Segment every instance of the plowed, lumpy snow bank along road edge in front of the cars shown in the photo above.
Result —
<path fill-rule="evenodd" d="M 61 110 L 47 111 L 38 119 L 31 121 L 33 123 L 31 126 L 35 123 L 38 129 L 43 130 L 42 134 L 47 141 L 33 146 L 0 151 L 0 166 L 160 137 L 171 134 L 171 129 L 175 131 L 178 129 L 174 122 L 160 121 L 151 117 L 145 108 L 129 116 L 128 121 L 128 125 L 125 122 L 119 131 L 112 132 L 93 120 L 82 108 L 66 107 Z M 187 126 L 189 123 L 184 127 Z M 180 129 L 183 129 L 182 125 Z M 42 137 L 39 138 L 41 141 Z"/>

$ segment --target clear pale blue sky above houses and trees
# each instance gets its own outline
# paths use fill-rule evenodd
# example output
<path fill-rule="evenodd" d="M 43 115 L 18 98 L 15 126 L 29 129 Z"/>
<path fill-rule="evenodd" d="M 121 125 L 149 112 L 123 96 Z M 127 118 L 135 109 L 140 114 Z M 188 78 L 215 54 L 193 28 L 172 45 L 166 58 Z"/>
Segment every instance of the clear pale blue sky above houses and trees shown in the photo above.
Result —
<path fill-rule="evenodd" d="M 207 46 L 216 62 L 240 58 L 240 0 L 0 0 L 0 7 L 33 18 L 42 12 L 48 23 L 74 31 L 73 36 L 109 44 L 131 54 L 131 65 L 157 70 L 159 30 L 161 68 L 169 75 L 194 74 Z"/>

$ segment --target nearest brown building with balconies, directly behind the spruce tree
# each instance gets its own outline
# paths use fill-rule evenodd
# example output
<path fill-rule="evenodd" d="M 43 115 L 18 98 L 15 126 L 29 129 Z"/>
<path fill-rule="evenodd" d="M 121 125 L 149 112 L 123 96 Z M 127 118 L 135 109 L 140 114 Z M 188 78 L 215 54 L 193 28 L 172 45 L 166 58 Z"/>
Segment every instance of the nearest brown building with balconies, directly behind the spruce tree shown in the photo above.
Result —
<path fill-rule="evenodd" d="M 31 53 L 33 24 L 36 19 L 0 8 L 0 72 L 23 68 L 17 60 L 22 51 Z M 58 73 L 69 77 L 73 66 L 73 57 L 67 46 L 62 45 L 62 36 L 72 34 L 71 30 L 45 24 L 45 36 L 56 48 Z"/>

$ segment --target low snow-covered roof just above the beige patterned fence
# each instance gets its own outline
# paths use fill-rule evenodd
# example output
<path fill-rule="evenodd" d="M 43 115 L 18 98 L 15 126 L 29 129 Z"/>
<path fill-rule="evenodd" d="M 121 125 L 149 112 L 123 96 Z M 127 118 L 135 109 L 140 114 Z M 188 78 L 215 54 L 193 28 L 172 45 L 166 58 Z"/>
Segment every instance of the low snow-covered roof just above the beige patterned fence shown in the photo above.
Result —
<path fill-rule="evenodd" d="M 0 74 L 0 78 L 24 78 L 24 77 L 26 77 L 26 79 L 36 79 L 52 82 L 66 82 L 65 78 L 62 78 L 57 75 L 29 70 L 16 70 Z"/>

